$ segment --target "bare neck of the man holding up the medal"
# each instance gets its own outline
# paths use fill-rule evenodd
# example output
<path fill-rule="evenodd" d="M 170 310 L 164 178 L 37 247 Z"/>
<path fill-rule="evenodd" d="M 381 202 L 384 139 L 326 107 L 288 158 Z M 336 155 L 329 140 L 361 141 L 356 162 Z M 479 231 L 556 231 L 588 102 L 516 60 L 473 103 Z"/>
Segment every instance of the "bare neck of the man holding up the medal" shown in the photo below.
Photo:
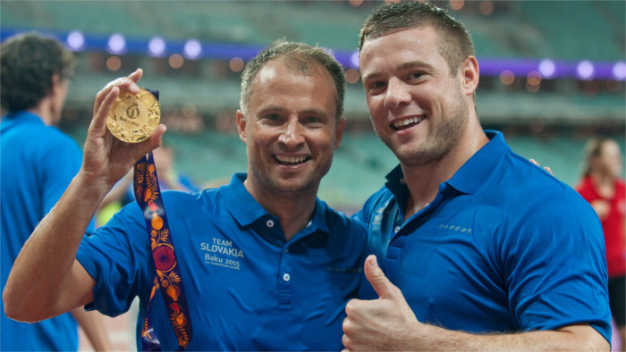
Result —
<path fill-rule="evenodd" d="M 245 180 L 243 185 L 267 213 L 278 217 L 287 240 L 292 239 L 296 233 L 307 227 L 313 217 L 317 189 L 299 193 L 270 193 L 255 188 L 249 180 Z"/>

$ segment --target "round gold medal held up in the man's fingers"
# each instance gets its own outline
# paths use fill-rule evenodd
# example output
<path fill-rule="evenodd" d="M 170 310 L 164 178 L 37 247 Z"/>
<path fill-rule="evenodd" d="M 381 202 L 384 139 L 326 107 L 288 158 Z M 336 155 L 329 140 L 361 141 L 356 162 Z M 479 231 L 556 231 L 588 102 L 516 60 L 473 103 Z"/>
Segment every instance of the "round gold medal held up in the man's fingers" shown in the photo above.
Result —
<path fill-rule="evenodd" d="M 120 93 L 106 116 L 106 127 L 115 138 L 127 143 L 139 143 L 148 139 L 161 120 L 161 108 L 157 97 L 145 88 L 138 95 Z"/>

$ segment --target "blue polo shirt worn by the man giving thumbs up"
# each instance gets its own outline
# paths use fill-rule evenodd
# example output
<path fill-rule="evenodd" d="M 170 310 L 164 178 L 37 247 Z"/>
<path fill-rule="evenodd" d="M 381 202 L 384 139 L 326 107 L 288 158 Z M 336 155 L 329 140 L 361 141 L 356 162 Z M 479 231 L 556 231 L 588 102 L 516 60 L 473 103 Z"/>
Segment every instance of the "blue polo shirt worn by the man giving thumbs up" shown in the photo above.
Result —
<path fill-rule="evenodd" d="M 605 245 L 577 192 L 490 140 L 435 200 L 403 222 L 409 190 L 397 167 L 355 217 L 368 247 L 420 322 L 473 332 L 591 324 L 611 339 Z M 362 298 L 376 298 L 364 281 Z"/>

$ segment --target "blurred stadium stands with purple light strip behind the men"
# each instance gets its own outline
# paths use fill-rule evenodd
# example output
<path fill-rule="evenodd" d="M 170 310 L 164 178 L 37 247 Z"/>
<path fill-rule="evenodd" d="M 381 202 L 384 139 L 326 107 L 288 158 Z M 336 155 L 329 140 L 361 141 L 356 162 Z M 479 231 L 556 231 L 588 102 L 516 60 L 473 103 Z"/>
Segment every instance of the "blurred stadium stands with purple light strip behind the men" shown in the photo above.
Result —
<path fill-rule="evenodd" d="M 351 213 L 395 164 L 368 120 L 356 52 L 382 1 L 7 1 L 1 37 L 38 30 L 78 57 L 61 128 L 80 145 L 97 91 L 137 67 L 161 92 L 178 172 L 204 186 L 246 169 L 236 136 L 241 70 L 276 38 L 319 44 L 344 65 L 346 136 L 320 197 Z M 463 21 L 480 65 L 478 114 L 513 150 L 579 180 L 584 142 L 624 144 L 623 1 L 435 1 Z"/>

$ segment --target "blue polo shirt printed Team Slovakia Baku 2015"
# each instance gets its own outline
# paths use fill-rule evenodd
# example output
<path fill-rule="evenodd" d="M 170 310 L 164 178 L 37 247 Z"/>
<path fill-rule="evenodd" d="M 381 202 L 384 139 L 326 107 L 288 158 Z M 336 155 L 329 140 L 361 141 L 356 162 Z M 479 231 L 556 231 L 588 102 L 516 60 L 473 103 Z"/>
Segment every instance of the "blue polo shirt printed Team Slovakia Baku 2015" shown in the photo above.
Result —
<path fill-rule="evenodd" d="M 317 199 L 309 225 L 287 241 L 279 219 L 243 186 L 246 177 L 196 194 L 163 193 L 193 324 L 189 349 L 342 349 L 365 228 Z M 77 257 L 96 281 L 89 307 L 114 316 L 139 296 L 139 336 L 156 274 L 139 206 L 123 207 L 83 239 Z M 164 350 L 177 348 L 160 292 L 151 305 Z"/>

